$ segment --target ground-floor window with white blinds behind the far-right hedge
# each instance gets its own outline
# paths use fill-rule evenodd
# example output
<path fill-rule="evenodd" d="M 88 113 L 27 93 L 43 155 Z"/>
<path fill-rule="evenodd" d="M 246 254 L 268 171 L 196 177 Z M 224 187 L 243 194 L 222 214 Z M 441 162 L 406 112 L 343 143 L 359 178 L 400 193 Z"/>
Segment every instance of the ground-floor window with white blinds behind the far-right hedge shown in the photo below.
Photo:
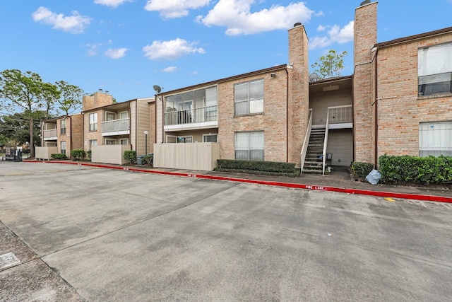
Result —
<path fill-rule="evenodd" d="M 419 124 L 419 156 L 452 156 L 452 122 Z"/>

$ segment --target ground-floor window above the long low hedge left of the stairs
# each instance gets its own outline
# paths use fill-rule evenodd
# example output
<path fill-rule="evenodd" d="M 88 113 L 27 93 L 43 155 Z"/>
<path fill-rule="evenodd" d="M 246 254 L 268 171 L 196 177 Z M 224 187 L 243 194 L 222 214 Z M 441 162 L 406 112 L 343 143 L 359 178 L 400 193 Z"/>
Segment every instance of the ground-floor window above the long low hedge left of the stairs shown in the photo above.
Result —
<path fill-rule="evenodd" d="M 235 159 L 263 161 L 263 131 L 235 132 Z"/>

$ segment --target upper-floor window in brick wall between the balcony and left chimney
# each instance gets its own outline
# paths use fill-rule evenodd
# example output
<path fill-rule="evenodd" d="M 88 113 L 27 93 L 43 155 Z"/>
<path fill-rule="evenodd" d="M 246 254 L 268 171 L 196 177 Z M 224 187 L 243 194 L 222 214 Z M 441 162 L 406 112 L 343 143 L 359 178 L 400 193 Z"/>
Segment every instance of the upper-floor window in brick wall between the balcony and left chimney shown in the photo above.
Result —
<path fill-rule="evenodd" d="M 235 115 L 263 112 L 263 80 L 239 83 L 234 86 Z"/>

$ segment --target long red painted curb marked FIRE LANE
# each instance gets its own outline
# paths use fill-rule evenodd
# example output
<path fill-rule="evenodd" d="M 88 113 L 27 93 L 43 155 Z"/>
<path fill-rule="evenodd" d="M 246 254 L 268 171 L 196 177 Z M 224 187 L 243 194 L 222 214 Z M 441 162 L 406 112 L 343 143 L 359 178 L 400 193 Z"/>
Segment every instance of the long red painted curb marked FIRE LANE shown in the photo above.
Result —
<path fill-rule="evenodd" d="M 347 189 L 343 187 L 328 187 L 328 186 L 319 186 L 319 185 L 303 185 L 298 183 L 291 182 L 275 182 L 275 181 L 267 181 L 267 180 L 249 180 L 244 178 L 229 178 L 225 176 L 215 176 L 215 175 L 197 175 L 191 173 L 177 173 L 177 172 L 167 172 L 167 171 L 158 171 L 158 170 L 148 170 L 148 169 L 140 169 L 140 168 L 128 168 L 128 167 L 120 167 L 120 166 L 112 166 L 112 165 L 102 165 L 97 163 L 76 163 L 73 161 L 35 161 L 35 160 L 25 160 L 29 163 L 66 163 L 70 165 L 87 165 L 90 167 L 97 168 L 109 168 L 116 170 L 129 170 L 133 172 L 143 172 L 143 173 L 154 173 L 154 174 L 162 174 L 162 175 L 174 175 L 174 176 L 182 176 L 186 178 L 202 178 L 209 180 L 227 180 L 232 182 L 246 182 L 253 183 L 256 185 L 271 185 L 275 187 L 291 187 L 294 189 L 306 189 L 306 190 L 315 190 L 315 191 L 328 191 L 328 192 L 339 192 L 339 193 L 348 193 L 348 194 L 361 194 L 361 195 L 370 195 L 370 196 L 378 196 L 378 197 L 393 197 L 393 198 L 401 198 L 401 199 L 415 199 L 415 200 L 424 200 L 429 202 L 448 202 L 452 203 L 452 197 L 445 196 L 436 196 L 436 195 L 423 195 L 423 194 L 410 194 L 410 193 L 397 193 L 397 192 L 384 192 L 384 191 L 372 191 L 372 190 L 361 190 L 361 189 Z"/>

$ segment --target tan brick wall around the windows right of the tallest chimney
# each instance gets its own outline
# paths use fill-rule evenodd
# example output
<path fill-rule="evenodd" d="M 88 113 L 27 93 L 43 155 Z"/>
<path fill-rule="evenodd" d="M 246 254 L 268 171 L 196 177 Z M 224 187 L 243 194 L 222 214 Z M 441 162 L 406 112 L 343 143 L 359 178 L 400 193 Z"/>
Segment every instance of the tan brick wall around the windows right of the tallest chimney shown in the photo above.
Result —
<path fill-rule="evenodd" d="M 378 52 L 378 156 L 419 156 L 420 122 L 452 120 L 452 95 L 417 95 L 417 50 L 451 34 L 383 47 Z"/>

